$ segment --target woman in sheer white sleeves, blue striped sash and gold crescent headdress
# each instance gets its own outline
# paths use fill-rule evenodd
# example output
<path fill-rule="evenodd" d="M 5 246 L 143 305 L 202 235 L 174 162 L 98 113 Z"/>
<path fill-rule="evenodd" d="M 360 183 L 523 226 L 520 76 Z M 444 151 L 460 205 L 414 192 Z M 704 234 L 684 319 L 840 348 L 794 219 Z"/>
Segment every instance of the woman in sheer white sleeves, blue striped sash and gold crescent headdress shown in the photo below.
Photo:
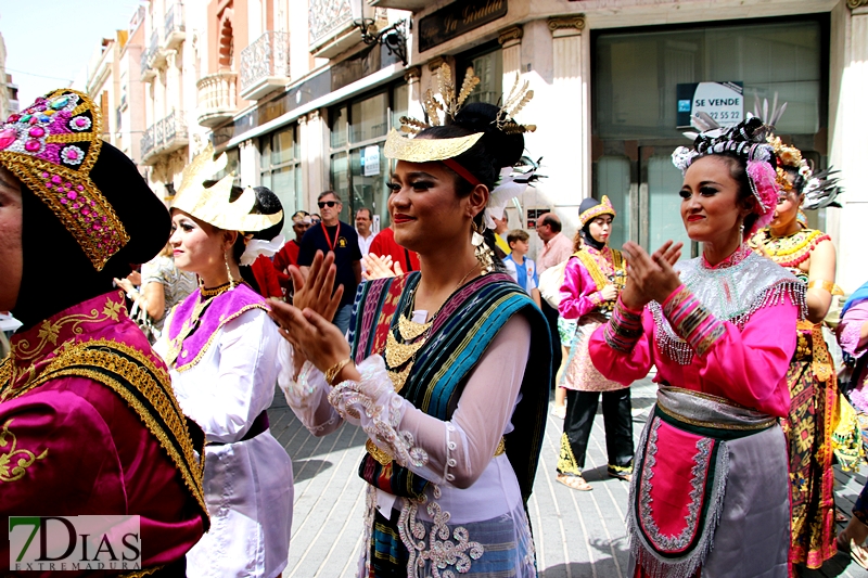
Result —
<path fill-rule="evenodd" d="M 439 74 L 450 86 L 448 67 Z M 316 312 L 335 307 L 334 298 L 324 305 L 331 285 L 321 282 L 321 271 L 333 274 L 321 266 L 331 256 L 318 257 L 314 288 L 296 293 L 295 307 L 273 307 L 301 370 L 288 396 L 296 413 L 317 435 L 346 421 L 369 438 L 361 576 L 536 576 L 526 503 L 551 345 L 539 309 L 493 262 L 490 231 L 488 241 L 481 234 L 489 192 L 519 160 L 528 128 L 489 104 L 456 113 L 472 81 L 469 70 L 460 97 L 444 95 L 450 124 L 407 120 L 421 132 L 386 140 L 397 160 L 395 241 L 419 254 L 421 271 L 361 285 L 349 344 Z"/>

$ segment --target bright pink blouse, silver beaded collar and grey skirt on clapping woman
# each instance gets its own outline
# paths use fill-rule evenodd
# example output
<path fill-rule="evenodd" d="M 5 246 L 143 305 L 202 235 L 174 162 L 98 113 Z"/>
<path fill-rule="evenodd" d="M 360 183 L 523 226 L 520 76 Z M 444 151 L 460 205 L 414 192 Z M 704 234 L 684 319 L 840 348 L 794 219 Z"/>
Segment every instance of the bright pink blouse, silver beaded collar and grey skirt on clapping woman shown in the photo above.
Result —
<path fill-rule="evenodd" d="M 637 449 L 627 516 L 638 576 L 788 575 L 787 369 L 804 286 L 740 247 L 630 311 L 618 299 L 590 355 L 623 384 L 652 365 L 658 404 Z M 703 490 L 704 488 L 704 490 Z M 745 548 L 744 544 L 751 544 Z"/>

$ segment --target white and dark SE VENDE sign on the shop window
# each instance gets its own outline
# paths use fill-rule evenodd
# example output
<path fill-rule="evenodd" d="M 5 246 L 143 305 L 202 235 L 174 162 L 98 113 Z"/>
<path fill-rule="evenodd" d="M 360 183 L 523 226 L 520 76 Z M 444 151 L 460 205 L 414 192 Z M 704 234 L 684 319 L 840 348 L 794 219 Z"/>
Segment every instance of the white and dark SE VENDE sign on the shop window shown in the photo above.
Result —
<path fill-rule="evenodd" d="M 744 85 L 742 82 L 690 82 L 676 89 L 678 117 L 676 128 L 690 128 L 690 118 L 705 113 L 720 126 L 737 125 L 744 119 Z"/>

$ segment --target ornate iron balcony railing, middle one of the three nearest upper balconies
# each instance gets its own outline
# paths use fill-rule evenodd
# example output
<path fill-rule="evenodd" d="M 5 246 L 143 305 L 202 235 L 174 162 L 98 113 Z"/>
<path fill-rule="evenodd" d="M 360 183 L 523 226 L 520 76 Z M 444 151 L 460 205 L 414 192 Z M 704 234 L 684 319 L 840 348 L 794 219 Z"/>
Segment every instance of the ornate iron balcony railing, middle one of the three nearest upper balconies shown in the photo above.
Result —
<path fill-rule="evenodd" d="M 241 98 L 258 100 L 289 82 L 290 35 L 267 31 L 241 51 Z"/>

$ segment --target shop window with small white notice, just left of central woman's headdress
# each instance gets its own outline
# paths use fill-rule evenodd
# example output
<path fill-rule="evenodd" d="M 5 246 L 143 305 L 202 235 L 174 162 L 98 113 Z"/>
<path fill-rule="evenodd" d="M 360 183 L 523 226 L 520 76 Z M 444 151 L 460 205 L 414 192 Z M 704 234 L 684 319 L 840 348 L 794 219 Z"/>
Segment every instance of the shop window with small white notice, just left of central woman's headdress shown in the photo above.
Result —
<path fill-rule="evenodd" d="M 356 209 L 367 207 L 380 218 L 381 229 L 388 226 L 391 165 L 383 144 L 408 106 L 409 88 L 401 82 L 332 108 L 330 176 L 344 203 L 341 220 L 352 223 Z"/>

